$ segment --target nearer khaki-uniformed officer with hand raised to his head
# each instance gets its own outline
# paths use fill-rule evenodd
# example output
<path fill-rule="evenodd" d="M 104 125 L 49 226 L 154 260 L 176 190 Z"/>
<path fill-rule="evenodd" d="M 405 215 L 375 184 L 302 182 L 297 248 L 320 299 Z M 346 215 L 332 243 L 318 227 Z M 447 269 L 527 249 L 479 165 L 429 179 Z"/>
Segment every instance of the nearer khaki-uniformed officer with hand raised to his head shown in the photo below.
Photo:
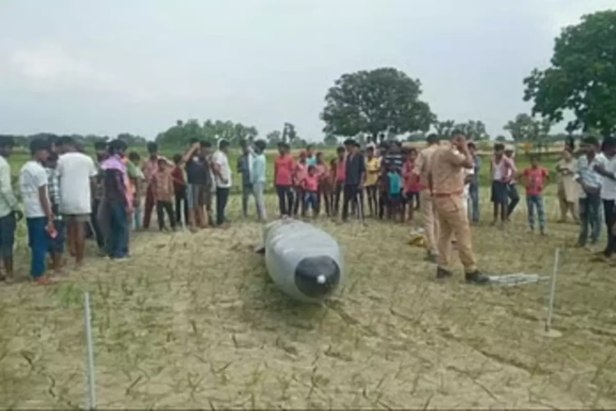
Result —
<path fill-rule="evenodd" d="M 441 146 L 430 160 L 428 186 L 432 193 L 432 204 L 439 221 L 439 252 L 436 271 L 437 279 L 451 277 L 450 271 L 452 240 L 455 235 L 460 261 L 464 266 L 466 281 L 483 284 L 490 279 L 477 270 L 472 254 L 471 227 L 464 209 L 464 169 L 472 168 L 474 160 L 461 132 L 454 132 L 452 145 Z"/>

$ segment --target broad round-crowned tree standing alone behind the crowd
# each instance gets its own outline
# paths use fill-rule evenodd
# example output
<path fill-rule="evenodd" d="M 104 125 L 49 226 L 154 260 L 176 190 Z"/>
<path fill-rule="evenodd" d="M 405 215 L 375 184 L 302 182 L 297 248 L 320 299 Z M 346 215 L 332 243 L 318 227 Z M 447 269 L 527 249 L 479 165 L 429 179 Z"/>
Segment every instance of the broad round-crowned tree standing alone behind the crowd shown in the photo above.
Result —
<path fill-rule="evenodd" d="M 373 140 L 384 131 L 395 135 L 428 131 L 435 116 L 419 96 L 419 79 L 395 68 L 344 74 L 325 96 L 323 131 L 349 137 L 366 132 Z"/>

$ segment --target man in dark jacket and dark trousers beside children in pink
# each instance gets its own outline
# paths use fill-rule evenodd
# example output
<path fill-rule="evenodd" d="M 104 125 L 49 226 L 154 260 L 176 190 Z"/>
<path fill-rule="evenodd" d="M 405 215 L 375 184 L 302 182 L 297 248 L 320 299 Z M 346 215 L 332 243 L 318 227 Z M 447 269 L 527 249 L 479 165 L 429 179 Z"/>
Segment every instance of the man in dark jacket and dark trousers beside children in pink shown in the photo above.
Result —
<path fill-rule="evenodd" d="M 354 139 L 344 140 L 347 151 L 342 195 L 342 221 L 349 218 L 349 203 L 353 201 L 363 211 L 363 182 L 366 177 L 366 160 L 359 152 Z"/>

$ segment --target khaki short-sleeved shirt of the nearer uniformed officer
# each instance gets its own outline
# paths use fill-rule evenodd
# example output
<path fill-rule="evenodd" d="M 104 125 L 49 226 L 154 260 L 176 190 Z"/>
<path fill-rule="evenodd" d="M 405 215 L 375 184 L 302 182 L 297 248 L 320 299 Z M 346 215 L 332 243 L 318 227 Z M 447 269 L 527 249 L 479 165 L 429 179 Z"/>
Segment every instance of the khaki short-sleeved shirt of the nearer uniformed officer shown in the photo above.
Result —
<path fill-rule="evenodd" d="M 464 167 L 466 157 L 454 147 L 439 146 L 430 158 L 434 195 L 462 195 L 464 192 Z"/>

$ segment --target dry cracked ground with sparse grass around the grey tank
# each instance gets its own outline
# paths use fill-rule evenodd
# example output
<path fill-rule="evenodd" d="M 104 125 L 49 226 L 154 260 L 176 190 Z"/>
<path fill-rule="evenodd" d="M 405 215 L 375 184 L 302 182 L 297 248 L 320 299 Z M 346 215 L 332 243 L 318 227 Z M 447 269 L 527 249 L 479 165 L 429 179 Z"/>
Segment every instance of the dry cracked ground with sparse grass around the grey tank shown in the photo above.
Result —
<path fill-rule="evenodd" d="M 485 200 L 485 198 L 484 198 Z M 232 218 L 238 218 L 232 198 Z M 269 198 L 270 214 L 275 200 Z M 489 274 L 548 275 L 549 236 L 473 229 Z M 484 201 L 482 219 L 490 219 Z M 125 263 L 89 256 L 60 285 L 0 287 L 0 406 L 82 407 L 83 290 L 92 298 L 99 407 L 611 408 L 616 405 L 616 269 L 565 248 L 554 325 L 541 335 L 548 284 L 473 287 L 433 280 L 409 226 L 319 226 L 339 240 L 348 277 L 325 306 L 289 301 L 251 247 L 256 222 L 137 235 Z M 20 250 L 19 268 L 27 268 Z"/>

